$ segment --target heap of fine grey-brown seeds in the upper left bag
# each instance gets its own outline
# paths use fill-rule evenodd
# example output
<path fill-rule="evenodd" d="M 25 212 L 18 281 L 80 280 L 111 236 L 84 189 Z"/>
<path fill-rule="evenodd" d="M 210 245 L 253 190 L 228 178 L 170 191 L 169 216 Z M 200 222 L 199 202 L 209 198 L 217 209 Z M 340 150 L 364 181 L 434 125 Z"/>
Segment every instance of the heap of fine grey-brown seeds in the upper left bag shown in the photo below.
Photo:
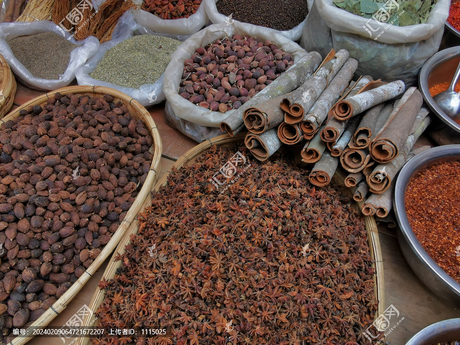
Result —
<path fill-rule="evenodd" d="M 8 41 L 16 59 L 35 78 L 59 79 L 70 61 L 71 52 L 78 47 L 54 32 L 19 36 Z"/>

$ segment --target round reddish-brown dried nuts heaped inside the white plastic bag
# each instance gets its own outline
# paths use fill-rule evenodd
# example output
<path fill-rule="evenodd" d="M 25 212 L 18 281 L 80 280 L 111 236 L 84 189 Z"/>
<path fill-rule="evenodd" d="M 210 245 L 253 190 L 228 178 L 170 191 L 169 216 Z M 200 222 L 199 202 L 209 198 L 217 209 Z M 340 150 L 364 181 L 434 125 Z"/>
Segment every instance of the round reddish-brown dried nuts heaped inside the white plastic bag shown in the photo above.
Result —
<path fill-rule="evenodd" d="M 184 61 L 178 93 L 213 111 L 238 109 L 293 63 L 271 41 L 235 34 L 197 48 Z"/>

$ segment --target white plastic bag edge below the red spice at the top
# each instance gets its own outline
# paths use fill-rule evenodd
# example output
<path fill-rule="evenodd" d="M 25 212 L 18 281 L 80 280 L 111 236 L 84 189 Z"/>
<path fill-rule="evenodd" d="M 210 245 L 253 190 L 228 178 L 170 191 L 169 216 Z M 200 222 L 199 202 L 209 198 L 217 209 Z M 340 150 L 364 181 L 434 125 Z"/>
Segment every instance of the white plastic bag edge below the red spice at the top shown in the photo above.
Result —
<path fill-rule="evenodd" d="M 141 6 L 144 0 L 134 0 L 134 4 Z M 172 38 L 183 41 L 201 30 L 208 22 L 203 4 L 200 4 L 196 13 L 188 18 L 161 19 L 144 10 L 132 10 L 134 20 L 140 25 L 152 30 L 155 34 L 164 33 Z"/>

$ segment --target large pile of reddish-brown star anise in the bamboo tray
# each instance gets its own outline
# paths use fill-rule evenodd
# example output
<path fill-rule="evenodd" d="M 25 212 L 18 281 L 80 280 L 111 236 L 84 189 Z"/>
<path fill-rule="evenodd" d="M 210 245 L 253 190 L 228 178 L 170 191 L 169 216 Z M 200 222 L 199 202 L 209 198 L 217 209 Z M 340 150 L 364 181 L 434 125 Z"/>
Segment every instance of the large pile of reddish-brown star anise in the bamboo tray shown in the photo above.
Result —
<path fill-rule="evenodd" d="M 117 274 L 99 284 L 99 326 L 161 328 L 158 344 L 363 344 L 378 301 L 360 214 L 278 153 L 233 180 L 218 173 L 216 190 L 237 151 L 249 155 L 212 147 L 153 194 Z M 148 341 L 93 338 L 111 340 Z"/>

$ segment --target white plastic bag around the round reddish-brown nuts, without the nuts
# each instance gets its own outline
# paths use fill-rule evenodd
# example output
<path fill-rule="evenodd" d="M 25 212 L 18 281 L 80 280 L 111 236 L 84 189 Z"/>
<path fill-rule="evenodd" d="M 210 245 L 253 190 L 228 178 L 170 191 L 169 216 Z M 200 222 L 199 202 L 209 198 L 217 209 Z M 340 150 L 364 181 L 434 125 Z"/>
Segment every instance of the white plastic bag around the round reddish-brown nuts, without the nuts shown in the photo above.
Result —
<path fill-rule="evenodd" d="M 191 137 L 192 139 L 202 142 L 215 136 L 215 130 L 196 130 L 196 127 L 187 125 L 183 120 L 191 122 L 197 126 L 214 127 L 218 128 L 222 120 L 224 120 L 234 110 L 229 110 L 225 113 L 218 111 L 211 111 L 199 107 L 192 102 L 182 98 L 177 90 L 179 88 L 180 81 L 182 79 L 182 68 L 183 63 L 186 59 L 190 59 L 195 50 L 199 47 L 203 47 L 206 44 L 214 42 L 216 39 L 220 39 L 225 36 L 232 37 L 233 34 L 247 35 L 250 37 L 257 37 L 259 40 L 270 40 L 277 44 L 278 47 L 292 55 L 294 62 L 298 61 L 301 57 L 305 56 L 307 52 L 303 50 L 297 43 L 293 42 L 279 31 L 272 29 L 255 26 L 251 24 L 234 21 L 232 24 L 226 22 L 220 24 L 211 25 L 195 35 L 187 39 L 185 42 L 179 45 L 179 48 L 172 54 L 171 62 L 166 68 L 164 78 L 165 84 L 163 91 L 167 99 L 167 107 L 165 108 L 165 116 L 167 123 L 181 123 L 180 127 L 176 125 L 176 128 L 182 133 Z M 175 119 L 175 120 L 174 120 Z M 185 131 L 188 128 L 190 130 Z M 211 136 L 209 133 L 211 133 Z M 219 129 L 219 133 L 220 129 Z M 206 135 L 205 135 L 206 134 Z"/>

